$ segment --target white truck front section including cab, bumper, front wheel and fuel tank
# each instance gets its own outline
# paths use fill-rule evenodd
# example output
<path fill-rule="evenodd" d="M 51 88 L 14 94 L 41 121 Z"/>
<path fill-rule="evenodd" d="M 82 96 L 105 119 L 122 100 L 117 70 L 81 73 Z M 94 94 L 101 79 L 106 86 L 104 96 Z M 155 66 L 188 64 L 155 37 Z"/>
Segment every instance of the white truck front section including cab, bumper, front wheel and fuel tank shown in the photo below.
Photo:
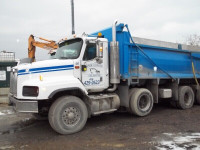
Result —
<path fill-rule="evenodd" d="M 82 35 L 60 43 L 55 59 L 14 67 L 10 101 L 18 112 L 45 112 L 55 131 L 70 134 L 118 109 L 117 94 L 102 94 L 109 85 L 108 40 Z"/>

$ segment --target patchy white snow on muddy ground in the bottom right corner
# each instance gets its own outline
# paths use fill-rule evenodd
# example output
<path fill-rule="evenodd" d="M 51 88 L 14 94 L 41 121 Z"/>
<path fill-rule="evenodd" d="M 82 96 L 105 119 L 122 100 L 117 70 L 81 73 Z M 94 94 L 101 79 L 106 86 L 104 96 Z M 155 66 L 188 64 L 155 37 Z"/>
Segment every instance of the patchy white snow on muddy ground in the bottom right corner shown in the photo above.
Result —
<path fill-rule="evenodd" d="M 164 133 L 157 142 L 158 150 L 199 150 L 200 133 Z"/>

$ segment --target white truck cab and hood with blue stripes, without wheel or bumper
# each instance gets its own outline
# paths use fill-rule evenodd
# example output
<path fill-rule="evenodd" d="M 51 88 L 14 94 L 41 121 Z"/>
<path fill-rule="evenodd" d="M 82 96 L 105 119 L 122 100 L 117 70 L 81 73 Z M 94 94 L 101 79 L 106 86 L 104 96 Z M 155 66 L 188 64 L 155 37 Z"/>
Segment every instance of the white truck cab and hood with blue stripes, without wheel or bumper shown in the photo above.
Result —
<path fill-rule="evenodd" d="M 78 88 L 85 94 L 108 88 L 106 39 L 83 36 L 63 41 L 55 57 L 13 68 L 12 77 L 17 76 L 18 83 L 15 88 L 11 86 L 11 93 L 16 90 L 13 96 L 44 100 L 64 88 Z"/>

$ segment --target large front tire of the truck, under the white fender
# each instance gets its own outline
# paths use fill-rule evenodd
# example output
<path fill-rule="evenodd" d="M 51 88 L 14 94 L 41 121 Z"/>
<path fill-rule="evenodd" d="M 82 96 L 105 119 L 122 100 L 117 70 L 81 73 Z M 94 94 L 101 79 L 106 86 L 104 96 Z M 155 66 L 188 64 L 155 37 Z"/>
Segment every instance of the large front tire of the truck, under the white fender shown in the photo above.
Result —
<path fill-rule="evenodd" d="M 49 110 L 49 123 L 60 134 L 79 132 L 86 124 L 88 110 L 85 103 L 75 96 L 58 98 Z"/>

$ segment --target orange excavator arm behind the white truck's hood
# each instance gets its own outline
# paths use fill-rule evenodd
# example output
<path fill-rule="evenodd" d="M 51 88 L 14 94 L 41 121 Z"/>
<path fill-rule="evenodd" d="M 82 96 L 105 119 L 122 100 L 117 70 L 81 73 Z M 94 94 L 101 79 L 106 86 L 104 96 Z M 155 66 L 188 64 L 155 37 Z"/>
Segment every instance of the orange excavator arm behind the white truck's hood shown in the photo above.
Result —
<path fill-rule="evenodd" d="M 58 49 L 58 44 L 53 40 L 47 40 L 42 37 L 38 37 L 40 40 L 45 42 L 38 42 L 34 39 L 35 36 L 30 35 L 28 38 L 28 58 L 31 59 L 32 62 L 35 62 L 35 51 L 36 47 L 40 47 L 50 51 L 50 54 L 53 50 Z"/>

